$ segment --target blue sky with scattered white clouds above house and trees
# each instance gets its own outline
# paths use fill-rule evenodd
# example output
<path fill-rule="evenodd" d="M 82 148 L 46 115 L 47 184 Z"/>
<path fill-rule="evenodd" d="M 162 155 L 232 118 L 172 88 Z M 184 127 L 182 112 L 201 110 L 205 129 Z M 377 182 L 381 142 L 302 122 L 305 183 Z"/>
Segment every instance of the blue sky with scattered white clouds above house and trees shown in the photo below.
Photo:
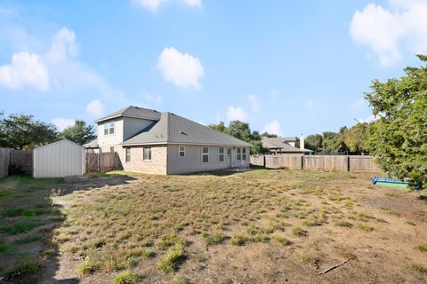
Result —
<path fill-rule="evenodd" d="M 426 14 L 424 0 L 5 0 L 0 110 L 60 128 L 133 105 L 337 131 L 370 119 L 372 79 L 419 65 Z"/>

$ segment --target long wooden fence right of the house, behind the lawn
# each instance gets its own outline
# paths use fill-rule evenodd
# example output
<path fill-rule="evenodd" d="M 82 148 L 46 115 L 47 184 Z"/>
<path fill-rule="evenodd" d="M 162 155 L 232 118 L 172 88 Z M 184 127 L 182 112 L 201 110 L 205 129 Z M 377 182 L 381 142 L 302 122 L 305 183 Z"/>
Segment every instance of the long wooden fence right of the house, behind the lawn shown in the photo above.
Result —
<path fill-rule="evenodd" d="M 252 165 L 269 169 L 379 171 L 372 156 L 350 155 L 259 155 L 251 156 Z"/>

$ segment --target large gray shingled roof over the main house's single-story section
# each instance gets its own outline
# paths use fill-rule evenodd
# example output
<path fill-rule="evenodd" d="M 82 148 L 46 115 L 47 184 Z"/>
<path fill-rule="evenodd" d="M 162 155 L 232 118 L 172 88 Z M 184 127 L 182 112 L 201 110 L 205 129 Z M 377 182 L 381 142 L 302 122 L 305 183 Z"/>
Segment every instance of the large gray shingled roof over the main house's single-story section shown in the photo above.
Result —
<path fill-rule="evenodd" d="M 192 122 L 176 114 L 162 113 L 160 120 L 121 145 L 133 146 L 143 144 L 194 144 L 217 146 L 251 146 L 238 138 L 231 137 L 205 125 Z"/>

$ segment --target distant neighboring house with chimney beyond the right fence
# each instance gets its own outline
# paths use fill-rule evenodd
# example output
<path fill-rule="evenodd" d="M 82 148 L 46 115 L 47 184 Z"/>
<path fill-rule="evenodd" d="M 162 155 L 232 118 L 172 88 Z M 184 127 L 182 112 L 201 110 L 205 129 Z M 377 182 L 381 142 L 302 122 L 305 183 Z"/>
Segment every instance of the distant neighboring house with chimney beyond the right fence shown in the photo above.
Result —
<path fill-rule="evenodd" d="M 303 138 L 300 147 L 295 147 L 296 138 L 262 138 L 262 146 L 269 150 L 269 154 L 310 154 L 313 151 L 304 148 Z"/>

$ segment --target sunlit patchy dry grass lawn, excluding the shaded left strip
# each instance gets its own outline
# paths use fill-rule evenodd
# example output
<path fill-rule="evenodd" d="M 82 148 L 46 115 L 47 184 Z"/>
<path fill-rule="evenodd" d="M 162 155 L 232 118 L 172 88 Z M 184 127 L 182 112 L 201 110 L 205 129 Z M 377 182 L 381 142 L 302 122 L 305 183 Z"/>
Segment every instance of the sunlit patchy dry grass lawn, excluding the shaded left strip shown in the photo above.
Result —
<path fill-rule="evenodd" d="M 45 242 L 57 253 L 42 282 L 427 281 L 426 200 L 370 173 L 130 175 L 51 195 L 65 221 Z"/>

